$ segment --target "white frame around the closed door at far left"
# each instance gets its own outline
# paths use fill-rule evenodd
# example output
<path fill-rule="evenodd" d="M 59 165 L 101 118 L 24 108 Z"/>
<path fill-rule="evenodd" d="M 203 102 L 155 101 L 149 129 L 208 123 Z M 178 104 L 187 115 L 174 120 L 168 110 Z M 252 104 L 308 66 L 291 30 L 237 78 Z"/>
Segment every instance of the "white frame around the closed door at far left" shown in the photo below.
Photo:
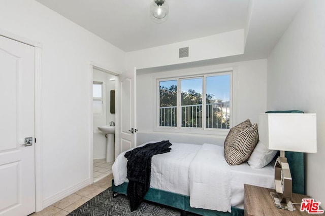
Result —
<path fill-rule="evenodd" d="M 42 83 L 42 44 L 25 37 L 21 37 L 14 33 L 0 29 L 0 35 L 34 47 L 35 49 L 35 211 L 43 209 L 43 190 L 42 190 L 42 95 L 41 95 L 41 83 Z M 34 137 L 34 138 L 35 138 Z"/>

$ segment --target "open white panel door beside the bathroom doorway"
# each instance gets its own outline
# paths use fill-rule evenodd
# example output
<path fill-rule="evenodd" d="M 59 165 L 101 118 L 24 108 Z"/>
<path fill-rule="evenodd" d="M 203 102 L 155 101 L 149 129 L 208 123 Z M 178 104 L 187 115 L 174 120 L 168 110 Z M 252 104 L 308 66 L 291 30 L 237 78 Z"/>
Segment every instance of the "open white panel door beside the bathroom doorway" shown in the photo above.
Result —
<path fill-rule="evenodd" d="M 119 152 L 137 146 L 136 121 L 136 68 L 119 76 L 120 86 L 120 128 Z"/>

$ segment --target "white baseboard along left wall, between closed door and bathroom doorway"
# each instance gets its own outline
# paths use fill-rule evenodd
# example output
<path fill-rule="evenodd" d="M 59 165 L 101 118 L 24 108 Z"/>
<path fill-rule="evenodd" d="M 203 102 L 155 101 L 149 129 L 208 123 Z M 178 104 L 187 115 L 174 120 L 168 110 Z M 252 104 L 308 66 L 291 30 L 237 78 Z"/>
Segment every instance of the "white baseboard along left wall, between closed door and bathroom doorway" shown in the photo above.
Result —
<path fill-rule="evenodd" d="M 76 191 L 79 191 L 80 189 L 86 187 L 90 185 L 90 179 L 86 179 L 84 181 L 82 181 L 81 183 L 71 187 L 71 188 L 68 188 L 66 190 L 63 190 L 57 194 L 55 194 L 54 196 L 51 196 L 51 197 L 48 197 L 46 199 L 43 200 L 43 209 L 52 205 L 53 203 L 56 203 L 57 201 L 63 199 L 64 197 L 67 197 L 73 193 L 75 193 Z M 41 209 L 42 210 L 42 209 Z"/>

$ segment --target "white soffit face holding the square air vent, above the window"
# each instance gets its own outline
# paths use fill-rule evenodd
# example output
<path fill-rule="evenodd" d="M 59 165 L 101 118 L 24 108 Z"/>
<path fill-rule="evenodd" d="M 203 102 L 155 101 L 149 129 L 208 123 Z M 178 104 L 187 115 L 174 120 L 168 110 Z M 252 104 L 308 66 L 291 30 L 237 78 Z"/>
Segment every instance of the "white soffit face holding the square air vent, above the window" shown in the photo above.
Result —
<path fill-rule="evenodd" d="M 181 64 L 200 60 L 240 55 L 244 52 L 244 29 L 209 37 L 128 52 L 127 68 L 137 69 Z M 189 57 L 179 58 L 179 48 L 189 47 Z"/>

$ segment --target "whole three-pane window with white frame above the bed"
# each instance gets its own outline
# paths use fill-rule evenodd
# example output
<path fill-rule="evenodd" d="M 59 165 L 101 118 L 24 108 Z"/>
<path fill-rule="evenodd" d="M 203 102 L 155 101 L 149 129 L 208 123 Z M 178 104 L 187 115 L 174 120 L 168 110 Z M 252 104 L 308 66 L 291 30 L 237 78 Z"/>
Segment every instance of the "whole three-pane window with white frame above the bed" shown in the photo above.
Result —
<path fill-rule="evenodd" d="M 159 128 L 229 129 L 231 76 L 228 72 L 157 80 Z"/>

